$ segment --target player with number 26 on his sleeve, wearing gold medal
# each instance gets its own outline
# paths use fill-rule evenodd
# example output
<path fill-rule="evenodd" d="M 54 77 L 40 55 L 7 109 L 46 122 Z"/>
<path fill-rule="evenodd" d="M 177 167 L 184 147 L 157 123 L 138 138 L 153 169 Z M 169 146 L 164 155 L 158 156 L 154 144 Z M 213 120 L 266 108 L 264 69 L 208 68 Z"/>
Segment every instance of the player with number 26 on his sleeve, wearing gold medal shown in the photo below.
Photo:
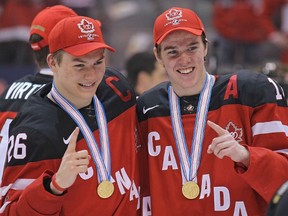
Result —
<path fill-rule="evenodd" d="M 137 215 L 135 94 L 124 76 L 105 73 L 114 49 L 100 22 L 61 20 L 49 49 L 53 83 L 11 123 L 0 213 Z"/>

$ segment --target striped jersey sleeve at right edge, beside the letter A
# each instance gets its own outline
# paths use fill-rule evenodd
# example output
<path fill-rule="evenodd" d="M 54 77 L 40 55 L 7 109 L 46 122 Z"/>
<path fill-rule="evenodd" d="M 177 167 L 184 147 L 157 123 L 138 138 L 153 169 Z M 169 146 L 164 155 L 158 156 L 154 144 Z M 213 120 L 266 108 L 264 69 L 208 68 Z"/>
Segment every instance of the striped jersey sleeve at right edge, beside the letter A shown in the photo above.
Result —
<path fill-rule="evenodd" d="M 250 95 L 255 105 L 251 113 L 252 141 L 247 145 L 250 164 L 240 175 L 269 202 L 288 179 L 287 102 L 282 88 L 271 78 L 259 74 L 254 83 Z"/>

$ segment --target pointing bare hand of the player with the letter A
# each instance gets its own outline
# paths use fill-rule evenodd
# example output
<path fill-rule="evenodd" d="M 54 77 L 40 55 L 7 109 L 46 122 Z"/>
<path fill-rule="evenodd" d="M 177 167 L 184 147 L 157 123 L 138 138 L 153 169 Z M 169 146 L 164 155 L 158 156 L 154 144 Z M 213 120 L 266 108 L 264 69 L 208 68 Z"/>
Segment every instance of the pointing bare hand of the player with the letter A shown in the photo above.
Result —
<path fill-rule="evenodd" d="M 249 151 L 240 145 L 229 133 L 219 125 L 207 121 L 207 124 L 219 135 L 212 140 L 207 153 L 213 153 L 216 157 L 222 159 L 224 156 L 230 157 L 234 162 L 241 162 L 248 167 L 250 162 Z"/>

